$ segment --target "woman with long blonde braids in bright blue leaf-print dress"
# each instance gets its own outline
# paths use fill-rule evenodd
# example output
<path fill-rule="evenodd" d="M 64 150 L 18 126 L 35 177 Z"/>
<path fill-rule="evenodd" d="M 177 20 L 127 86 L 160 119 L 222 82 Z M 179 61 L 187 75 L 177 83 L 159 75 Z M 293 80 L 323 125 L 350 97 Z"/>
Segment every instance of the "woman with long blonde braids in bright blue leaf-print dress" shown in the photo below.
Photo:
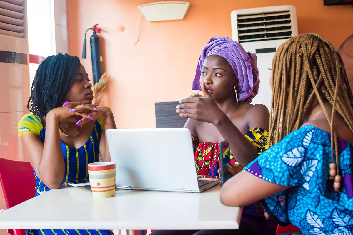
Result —
<path fill-rule="evenodd" d="M 318 35 L 289 39 L 272 66 L 269 150 L 229 179 L 221 202 L 262 199 L 280 225 L 353 234 L 353 96 L 340 55 Z"/>

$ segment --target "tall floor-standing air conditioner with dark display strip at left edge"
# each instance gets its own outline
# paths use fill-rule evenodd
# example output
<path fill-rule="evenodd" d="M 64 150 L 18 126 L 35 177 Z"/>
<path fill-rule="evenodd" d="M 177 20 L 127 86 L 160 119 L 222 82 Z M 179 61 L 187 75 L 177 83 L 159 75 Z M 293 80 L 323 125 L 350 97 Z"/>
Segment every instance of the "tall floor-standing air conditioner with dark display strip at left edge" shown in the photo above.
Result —
<path fill-rule="evenodd" d="M 29 113 L 26 0 L 0 1 L 0 71 L 0 153 L 9 159 L 25 160 L 17 124 Z"/>

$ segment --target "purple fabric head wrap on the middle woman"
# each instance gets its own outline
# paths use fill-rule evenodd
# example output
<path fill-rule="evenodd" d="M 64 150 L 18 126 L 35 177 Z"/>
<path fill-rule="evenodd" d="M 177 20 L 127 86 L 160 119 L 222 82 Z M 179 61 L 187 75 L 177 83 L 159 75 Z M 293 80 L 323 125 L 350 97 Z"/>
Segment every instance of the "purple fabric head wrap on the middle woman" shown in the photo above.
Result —
<path fill-rule="evenodd" d="M 195 79 L 192 82 L 192 89 L 199 89 L 201 68 L 205 58 L 210 55 L 222 56 L 228 61 L 234 70 L 235 77 L 239 80 L 237 87 L 238 100 L 243 103 L 250 103 L 257 95 L 260 85 L 257 58 L 255 54 L 246 52 L 240 43 L 228 37 L 213 37 L 202 49 L 196 67 Z"/>

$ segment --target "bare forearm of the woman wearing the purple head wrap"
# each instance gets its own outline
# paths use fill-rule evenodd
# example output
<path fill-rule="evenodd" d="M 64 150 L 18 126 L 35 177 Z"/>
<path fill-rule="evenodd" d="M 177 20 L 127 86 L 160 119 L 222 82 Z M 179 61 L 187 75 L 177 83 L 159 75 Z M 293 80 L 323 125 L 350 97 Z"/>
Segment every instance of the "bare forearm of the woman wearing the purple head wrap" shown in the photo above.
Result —
<path fill-rule="evenodd" d="M 239 164 L 246 166 L 257 157 L 256 147 L 240 132 L 226 114 L 216 120 L 214 125 L 222 137 L 229 141 L 229 147 Z"/>

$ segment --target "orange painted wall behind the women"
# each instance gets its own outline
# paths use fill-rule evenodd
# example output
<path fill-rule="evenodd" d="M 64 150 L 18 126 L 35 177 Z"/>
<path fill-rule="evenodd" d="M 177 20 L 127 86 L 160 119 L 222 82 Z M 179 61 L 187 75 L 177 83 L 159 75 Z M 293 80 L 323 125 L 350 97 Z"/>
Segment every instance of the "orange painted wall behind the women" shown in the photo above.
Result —
<path fill-rule="evenodd" d="M 184 20 L 142 21 L 137 6 L 154 0 L 67 0 L 68 43 L 71 55 L 82 55 L 84 32 L 100 23 L 104 38 L 103 68 L 112 76 L 104 104 L 118 128 L 154 128 L 154 103 L 190 96 L 191 83 L 203 46 L 213 36 L 232 36 L 233 10 L 294 5 L 299 33 L 319 33 L 338 49 L 353 33 L 352 6 L 323 6 L 323 0 L 189 0 Z M 157 1 L 157 0 L 156 0 Z M 120 26 L 126 32 L 119 31 Z M 88 33 L 88 37 L 91 32 Z M 90 78 L 88 59 L 82 60 Z"/>

